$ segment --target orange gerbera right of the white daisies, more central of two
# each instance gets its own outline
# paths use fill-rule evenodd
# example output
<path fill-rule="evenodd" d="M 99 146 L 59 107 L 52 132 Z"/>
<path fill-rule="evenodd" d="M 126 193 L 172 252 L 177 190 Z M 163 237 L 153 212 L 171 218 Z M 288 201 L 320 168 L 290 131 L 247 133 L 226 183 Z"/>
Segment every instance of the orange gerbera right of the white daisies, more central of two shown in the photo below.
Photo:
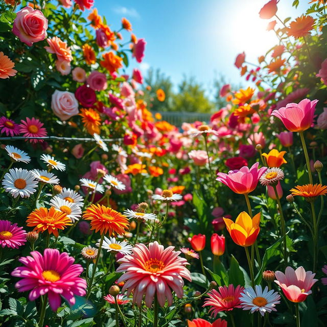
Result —
<path fill-rule="evenodd" d="M 113 233 L 116 235 L 124 235 L 128 230 L 128 218 L 121 213 L 104 205 L 91 204 L 83 213 L 83 218 L 89 220 L 91 230 L 100 231 L 103 235 L 109 232 L 109 236 Z"/>

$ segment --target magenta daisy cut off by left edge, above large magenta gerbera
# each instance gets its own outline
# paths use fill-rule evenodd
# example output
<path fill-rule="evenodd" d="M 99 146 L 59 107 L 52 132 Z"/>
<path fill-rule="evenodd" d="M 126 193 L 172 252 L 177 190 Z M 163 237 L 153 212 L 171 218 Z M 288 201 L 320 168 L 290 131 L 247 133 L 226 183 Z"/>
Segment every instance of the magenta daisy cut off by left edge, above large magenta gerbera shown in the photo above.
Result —
<path fill-rule="evenodd" d="M 8 220 L 0 220 L 0 245 L 18 249 L 26 243 L 26 231 Z"/>

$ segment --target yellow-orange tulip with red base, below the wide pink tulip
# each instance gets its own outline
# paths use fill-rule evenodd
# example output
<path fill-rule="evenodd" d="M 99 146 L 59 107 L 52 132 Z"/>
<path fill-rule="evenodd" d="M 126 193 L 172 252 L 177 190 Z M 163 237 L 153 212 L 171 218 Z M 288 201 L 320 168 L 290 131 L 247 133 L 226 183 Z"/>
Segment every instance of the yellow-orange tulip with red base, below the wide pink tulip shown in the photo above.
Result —
<path fill-rule="evenodd" d="M 256 214 L 252 219 L 245 212 L 241 212 L 233 222 L 230 219 L 223 218 L 227 230 L 232 240 L 240 246 L 252 245 L 259 235 L 260 213 Z"/>

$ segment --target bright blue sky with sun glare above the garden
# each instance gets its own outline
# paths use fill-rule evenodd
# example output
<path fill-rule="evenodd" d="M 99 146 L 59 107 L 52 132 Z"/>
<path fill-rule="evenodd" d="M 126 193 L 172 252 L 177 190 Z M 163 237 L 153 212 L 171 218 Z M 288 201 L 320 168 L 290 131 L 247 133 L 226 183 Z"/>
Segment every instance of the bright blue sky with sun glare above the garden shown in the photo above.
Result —
<path fill-rule="evenodd" d="M 146 56 L 140 65 L 160 68 L 176 85 L 183 74 L 194 76 L 207 89 L 215 72 L 226 76 L 228 82 L 239 84 L 244 79 L 233 66 L 238 53 L 245 51 L 247 60 L 256 62 L 277 38 L 267 32 L 269 20 L 259 17 L 268 0 L 125 0 L 113 2 L 96 0 L 100 14 L 106 16 L 113 29 L 121 17 L 128 18 L 133 33 L 147 41 Z M 301 0 L 297 8 L 292 0 L 281 0 L 277 15 L 296 18 L 309 7 Z M 135 61 L 132 62 L 137 66 Z"/>

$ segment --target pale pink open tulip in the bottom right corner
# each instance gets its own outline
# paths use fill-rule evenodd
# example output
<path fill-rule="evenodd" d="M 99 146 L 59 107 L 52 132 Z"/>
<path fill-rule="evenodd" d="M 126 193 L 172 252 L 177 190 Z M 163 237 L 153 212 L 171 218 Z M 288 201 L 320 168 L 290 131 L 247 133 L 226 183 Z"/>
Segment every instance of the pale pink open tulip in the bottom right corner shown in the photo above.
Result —
<path fill-rule="evenodd" d="M 275 283 L 281 287 L 283 293 L 292 302 L 303 302 L 307 296 L 312 293 L 311 288 L 318 279 L 312 271 L 305 271 L 303 267 L 294 270 L 287 267 L 285 274 L 282 271 L 275 271 Z"/>

